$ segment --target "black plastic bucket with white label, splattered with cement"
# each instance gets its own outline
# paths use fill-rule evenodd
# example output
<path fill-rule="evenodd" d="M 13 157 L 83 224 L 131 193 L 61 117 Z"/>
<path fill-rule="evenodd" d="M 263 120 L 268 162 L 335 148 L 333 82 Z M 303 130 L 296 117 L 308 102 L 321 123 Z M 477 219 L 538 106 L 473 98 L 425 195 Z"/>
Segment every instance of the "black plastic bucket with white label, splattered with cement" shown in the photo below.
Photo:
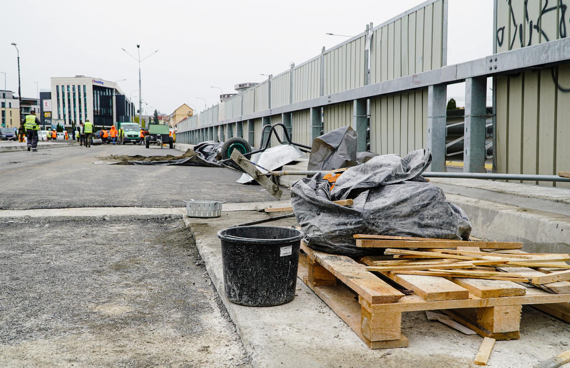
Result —
<path fill-rule="evenodd" d="M 293 300 L 303 237 L 299 230 L 279 226 L 238 226 L 218 231 L 227 299 L 254 307 Z"/>

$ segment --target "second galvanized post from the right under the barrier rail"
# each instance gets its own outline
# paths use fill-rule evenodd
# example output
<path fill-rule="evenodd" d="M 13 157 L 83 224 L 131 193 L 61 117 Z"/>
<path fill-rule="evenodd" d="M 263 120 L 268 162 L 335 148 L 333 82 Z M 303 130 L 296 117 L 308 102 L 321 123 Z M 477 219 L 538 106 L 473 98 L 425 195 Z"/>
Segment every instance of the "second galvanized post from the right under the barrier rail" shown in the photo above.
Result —
<path fill-rule="evenodd" d="M 447 119 L 447 85 L 427 87 L 427 151 L 431 153 L 428 171 L 445 172 L 445 123 Z"/>

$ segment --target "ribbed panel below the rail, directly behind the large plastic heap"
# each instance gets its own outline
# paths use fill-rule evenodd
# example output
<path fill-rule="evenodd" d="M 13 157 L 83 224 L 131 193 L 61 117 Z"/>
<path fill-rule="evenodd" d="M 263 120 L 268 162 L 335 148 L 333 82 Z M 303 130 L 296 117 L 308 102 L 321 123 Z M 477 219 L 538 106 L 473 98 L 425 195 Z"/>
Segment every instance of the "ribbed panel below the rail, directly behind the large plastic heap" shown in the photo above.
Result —
<path fill-rule="evenodd" d="M 427 144 L 427 89 L 370 98 L 370 151 L 405 156 Z"/>

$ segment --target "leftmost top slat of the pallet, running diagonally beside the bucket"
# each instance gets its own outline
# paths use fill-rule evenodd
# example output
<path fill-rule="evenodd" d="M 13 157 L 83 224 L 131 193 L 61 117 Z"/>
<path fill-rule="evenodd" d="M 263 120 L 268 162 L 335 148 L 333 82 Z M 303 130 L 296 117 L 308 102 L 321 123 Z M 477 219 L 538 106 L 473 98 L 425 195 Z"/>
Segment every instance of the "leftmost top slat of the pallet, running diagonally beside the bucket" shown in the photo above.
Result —
<path fill-rule="evenodd" d="M 356 291 L 360 296 L 372 304 L 394 303 L 404 294 L 371 274 L 364 264 L 356 262 L 345 255 L 321 253 L 309 249 L 304 242 L 301 249 L 315 259 L 321 266 L 335 275 L 341 282 Z"/>

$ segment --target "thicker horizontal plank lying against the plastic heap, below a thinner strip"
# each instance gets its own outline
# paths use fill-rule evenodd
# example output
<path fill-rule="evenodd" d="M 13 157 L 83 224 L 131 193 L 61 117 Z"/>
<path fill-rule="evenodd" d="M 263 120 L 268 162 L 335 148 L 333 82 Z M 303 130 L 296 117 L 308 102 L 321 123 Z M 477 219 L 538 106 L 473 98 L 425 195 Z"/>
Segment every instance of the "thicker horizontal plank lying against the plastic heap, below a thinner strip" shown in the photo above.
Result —
<path fill-rule="evenodd" d="M 373 240 L 356 239 L 357 247 L 376 248 L 455 248 L 462 242 L 449 241 L 413 241 L 413 240 Z M 477 242 L 481 249 L 521 249 L 521 242 Z"/>

